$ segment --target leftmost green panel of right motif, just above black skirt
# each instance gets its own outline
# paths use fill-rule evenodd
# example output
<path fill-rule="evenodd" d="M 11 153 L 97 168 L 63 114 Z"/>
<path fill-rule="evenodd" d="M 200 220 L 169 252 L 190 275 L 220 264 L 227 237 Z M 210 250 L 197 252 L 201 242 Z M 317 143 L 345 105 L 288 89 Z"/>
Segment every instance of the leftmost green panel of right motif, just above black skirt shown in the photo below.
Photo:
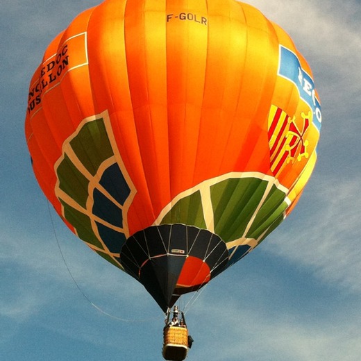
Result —
<path fill-rule="evenodd" d="M 201 202 L 201 193 L 194 192 L 180 199 L 162 219 L 161 224 L 187 224 L 206 229 Z"/>

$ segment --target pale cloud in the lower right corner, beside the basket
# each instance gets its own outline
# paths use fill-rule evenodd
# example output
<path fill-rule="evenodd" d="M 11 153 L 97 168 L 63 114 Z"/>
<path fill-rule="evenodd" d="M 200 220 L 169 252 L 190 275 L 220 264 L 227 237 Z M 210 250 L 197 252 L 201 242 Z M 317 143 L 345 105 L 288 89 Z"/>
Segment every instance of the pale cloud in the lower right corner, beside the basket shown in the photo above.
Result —
<path fill-rule="evenodd" d="M 243 292 L 247 287 L 242 287 Z M 275 289 L 274 292 L 282 290 Z M 192 358 L 215 361 L 358 360 L 361 354 L 361 325 L 357 318 L 360 306 L 351 312 L 337 312 L 338 308 L 335 308 L 330 310 L 335 312 L 334 318 L 323 319 L 317 314 L 305 316 L 296 309 L 272 312 L 271 304 L 260 303 L 261 307 L 247 304 L 245 296 L 239 293 L 221 293 L 217 298 L 207 302 L 202 299 L 197 304 L 197 325 L 191 327 L 190 332 L 194 332 L 195 344 L 199 342 L 200 347 L 191 351 Z M 339 305 L 339 310 L 345 307 L 347 305 Z"/>

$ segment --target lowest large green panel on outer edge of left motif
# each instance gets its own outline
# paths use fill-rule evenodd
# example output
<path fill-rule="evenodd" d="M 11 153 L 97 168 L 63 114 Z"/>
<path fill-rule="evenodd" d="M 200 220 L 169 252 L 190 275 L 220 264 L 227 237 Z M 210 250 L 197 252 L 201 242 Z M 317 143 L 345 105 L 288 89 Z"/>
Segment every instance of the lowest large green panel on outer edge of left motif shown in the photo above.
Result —
<path fill-rule="evenodd" d="M 64 201 L 61 201 L 61 203 L 64 206 L 64 217 L 76 229 L 78 237 L 86 243 L 93 244 L 94 246 L 103 249 L 103 244 L 99 242 L 92 230 L 90 218 L 78 210 L 75 210 Z"/>

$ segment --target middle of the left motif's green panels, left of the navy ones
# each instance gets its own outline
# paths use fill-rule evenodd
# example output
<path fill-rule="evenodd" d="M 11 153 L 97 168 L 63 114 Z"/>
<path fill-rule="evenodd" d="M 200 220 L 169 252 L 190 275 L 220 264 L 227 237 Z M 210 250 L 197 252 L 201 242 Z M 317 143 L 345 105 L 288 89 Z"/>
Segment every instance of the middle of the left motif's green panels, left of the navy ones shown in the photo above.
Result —
<path fill-rule="evenodd" d="M 62 160 L 58 169 L 56 169 L 56 173 L 60 181 L 60 190 L 72 197 L 72 199 L 83 208 L 86 208 L 88 196 L 87 186 L 89 185 L 89 181 L 76 169 L 67 154 L 64 155 L 64 160 Z"/>

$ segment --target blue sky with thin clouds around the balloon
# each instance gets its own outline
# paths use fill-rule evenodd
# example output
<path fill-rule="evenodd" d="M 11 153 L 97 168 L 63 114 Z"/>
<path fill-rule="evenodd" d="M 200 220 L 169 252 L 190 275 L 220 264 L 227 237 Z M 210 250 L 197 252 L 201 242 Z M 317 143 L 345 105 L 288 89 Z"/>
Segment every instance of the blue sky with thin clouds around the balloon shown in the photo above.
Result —
<path fill-rule="evenodd" d="M 49 210 L 24 137 L 28 85 L 44 50 L 99 2 L 1 1 L 0 360 L 162 360 L 158 305 Z M 361 1 L 247 2 L 291 35 L 312 68 L 319 158 L 292 215 L 180 304 L 195 340 L 187 360 L 358 361 Z"/>

